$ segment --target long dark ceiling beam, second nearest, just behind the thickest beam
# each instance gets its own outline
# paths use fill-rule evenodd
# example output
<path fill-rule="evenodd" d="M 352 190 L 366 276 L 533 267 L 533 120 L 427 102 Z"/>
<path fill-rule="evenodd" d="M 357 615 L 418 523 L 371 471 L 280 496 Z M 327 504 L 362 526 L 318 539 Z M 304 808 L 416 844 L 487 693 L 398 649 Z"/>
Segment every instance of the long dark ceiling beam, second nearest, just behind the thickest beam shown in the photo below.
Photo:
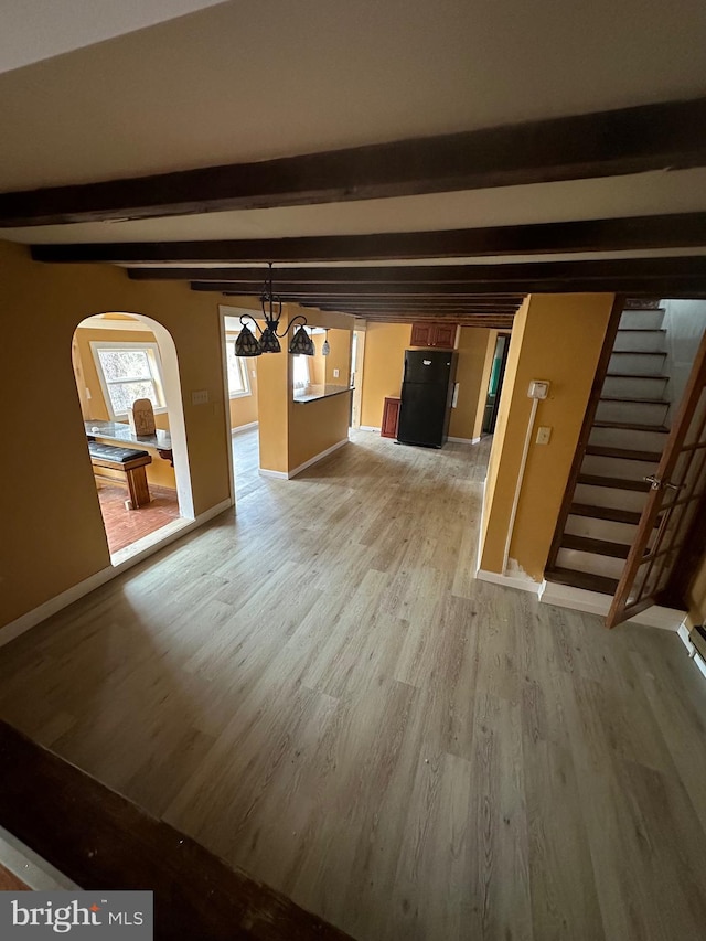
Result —
<path fill-rule="evenodd" d="M 628 252 L 697 248 L 706 245 L 706 213 L 547 222 L 440 232 L 323 235 L 211 242 L 127 242 L 36 245 L 41 261 L 386 261 L 396 258 L 463 258 L 493 255 L 546 255 L 574 252 Z M 217 269 L 216 269 L 217 270 Z M 184 268 L 132 268 L 136 279 L 185 278 Z M 228 275 L 224 271 L 223 279 Z"/>

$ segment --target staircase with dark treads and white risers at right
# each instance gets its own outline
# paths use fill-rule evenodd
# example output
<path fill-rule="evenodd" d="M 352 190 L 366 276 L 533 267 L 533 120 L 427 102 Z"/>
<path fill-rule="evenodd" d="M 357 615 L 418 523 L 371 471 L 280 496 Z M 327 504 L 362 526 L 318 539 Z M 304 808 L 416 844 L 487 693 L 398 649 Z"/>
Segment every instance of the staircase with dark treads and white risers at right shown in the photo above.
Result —
<path fill-rule="evenodd" d="M 656 471 L 668 434 L 663 317 L 661 308 L 631 308 L 620 318 L 547 581 L 616 592 L 650 490 L 644 478 Z"/>

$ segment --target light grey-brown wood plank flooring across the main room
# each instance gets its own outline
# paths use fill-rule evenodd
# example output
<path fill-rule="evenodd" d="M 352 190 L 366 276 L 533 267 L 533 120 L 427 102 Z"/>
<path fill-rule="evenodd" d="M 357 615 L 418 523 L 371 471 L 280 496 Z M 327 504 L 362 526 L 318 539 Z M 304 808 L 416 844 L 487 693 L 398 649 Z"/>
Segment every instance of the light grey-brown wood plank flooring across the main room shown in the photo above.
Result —
<path fill-rule="evenodd" d="M 259 479 L 2 649 L 0 716 L 360 941 L 705 937 L 703 677 L 474 581 L 486 457 Z"/>

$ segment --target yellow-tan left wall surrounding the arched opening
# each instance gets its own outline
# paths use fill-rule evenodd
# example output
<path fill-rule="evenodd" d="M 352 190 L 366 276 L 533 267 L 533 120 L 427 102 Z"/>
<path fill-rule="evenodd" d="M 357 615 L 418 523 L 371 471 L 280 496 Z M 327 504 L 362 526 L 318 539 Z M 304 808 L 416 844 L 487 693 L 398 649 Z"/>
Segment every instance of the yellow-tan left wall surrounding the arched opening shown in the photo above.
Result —
<path fill-rule="evenodd" d="M 28 248 L 0 243 L 0 391 L 12 443 L 0 488 L 0 624 L 110 565 L 71 347 L 82 320 L 116 310 L 152 318 L 174 340 L 195 513 L 229 498 L 217 302 L 181 284 L 130 281 L 107 265 L 41 265 Z M 192 389 L 207 389 L 210 403 L 192 406 Z M 33 446 L 42 460 L 28 459 Z"/>

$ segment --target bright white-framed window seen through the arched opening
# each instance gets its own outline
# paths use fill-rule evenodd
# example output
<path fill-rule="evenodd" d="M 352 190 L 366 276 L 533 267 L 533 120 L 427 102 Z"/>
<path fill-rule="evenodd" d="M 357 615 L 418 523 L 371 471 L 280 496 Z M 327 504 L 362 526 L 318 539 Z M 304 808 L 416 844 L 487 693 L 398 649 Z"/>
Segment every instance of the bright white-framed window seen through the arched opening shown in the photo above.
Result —
<path fill-rule="evenodd" d="M 113 421 L 127 418 L 136 398 L 165 410 L 157 343 L 90 343 L 106 406 Z"/>

